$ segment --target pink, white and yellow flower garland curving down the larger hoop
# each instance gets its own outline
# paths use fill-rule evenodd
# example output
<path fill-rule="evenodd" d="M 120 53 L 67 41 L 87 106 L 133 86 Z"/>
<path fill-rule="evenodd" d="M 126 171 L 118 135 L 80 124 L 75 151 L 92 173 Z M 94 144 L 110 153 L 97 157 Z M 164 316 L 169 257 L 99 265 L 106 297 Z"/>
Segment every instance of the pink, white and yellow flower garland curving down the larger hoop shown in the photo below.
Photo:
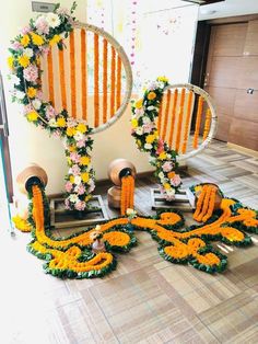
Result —
<path fill-rule="evenodd" d="M 54 13 L 39 15 L 31 20 L 21 33 L 11 42 L 11 56 L 8 64 L 13 84 L 12 100 L 24 105 L 26 119 L 47 129 L 54 137 L 64 138 L 66 157 L 69 165 L 66 175 L 66 208 L 84 210 L 95 188 L 94 170 L 91 164 L 93 139 L 85 121 L 68 116 L 67 110 L 57 113 L 51 102 L 44 102 L 40 85 L 40 56 L 48 54 L 55 45 L 63 49 L 63 38 L 73 31 L 75 10 L 73 2 L 70 13 L 56 5 Z"/>

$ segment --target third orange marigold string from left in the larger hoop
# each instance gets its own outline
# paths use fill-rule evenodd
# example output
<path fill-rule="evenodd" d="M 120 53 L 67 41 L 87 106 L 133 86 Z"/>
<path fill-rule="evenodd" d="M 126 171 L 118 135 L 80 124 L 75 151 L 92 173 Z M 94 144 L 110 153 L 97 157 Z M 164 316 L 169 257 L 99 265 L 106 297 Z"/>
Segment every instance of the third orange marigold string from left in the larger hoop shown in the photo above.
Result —
<path fill-rule="evenodd" d="M 71 113 L 77 117 L 77 81 L 75 81 L 75 53 L 74 53 L 74 32 L 70 34 L 70 84 L 71 84 Z"/>

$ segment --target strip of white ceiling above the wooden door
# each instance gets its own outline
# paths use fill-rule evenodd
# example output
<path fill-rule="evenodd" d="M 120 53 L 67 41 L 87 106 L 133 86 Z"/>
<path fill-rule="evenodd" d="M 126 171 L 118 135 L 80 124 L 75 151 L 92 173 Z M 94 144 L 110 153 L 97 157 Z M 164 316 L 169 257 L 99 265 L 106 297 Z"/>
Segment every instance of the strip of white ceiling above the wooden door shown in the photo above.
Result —
<path fill-rule="evenodd" d="M 209 13 L 209 11 L 215 11 Z M 200 7 L 199 20 L 258 13 L 258 0 L 225 0 Z"/>

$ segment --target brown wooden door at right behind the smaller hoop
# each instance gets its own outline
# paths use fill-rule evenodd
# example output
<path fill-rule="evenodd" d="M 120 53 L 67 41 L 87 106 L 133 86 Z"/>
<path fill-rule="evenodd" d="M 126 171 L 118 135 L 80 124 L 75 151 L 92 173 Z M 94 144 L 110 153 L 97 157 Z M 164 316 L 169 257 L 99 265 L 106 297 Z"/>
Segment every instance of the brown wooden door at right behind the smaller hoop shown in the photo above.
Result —
<path fill-rule="evenodd" d="M 258 150 L 258 21 L 212 26 L 206 89 L 218 108 L 216 138 Z"/>

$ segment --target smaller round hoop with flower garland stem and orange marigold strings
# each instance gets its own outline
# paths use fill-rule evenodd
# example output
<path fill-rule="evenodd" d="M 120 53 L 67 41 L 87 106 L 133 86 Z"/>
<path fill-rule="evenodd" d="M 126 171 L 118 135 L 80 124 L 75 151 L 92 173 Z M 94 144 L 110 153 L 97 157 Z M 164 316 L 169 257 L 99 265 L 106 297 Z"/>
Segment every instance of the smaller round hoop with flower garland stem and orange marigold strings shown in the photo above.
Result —
<path fill-rule="evenodd" d="M 165 92 L 167 91 L 168 96 L 171 98 L 171 90 L 172 89 L 177 90 L 178 88 L 181 88 L 184 92 L 185 90 L 189 90 L 190 94 L 194 94 L 194 95 L 197 94 L 199 95 L 199 100 L 202 100 L 202 102 L 203 101 L 207 102 L 208 110 L 209 110 L 209 121 L 210 121 L 209 126 L 207 125 L 208 129 L 206 133 L 206 138 L 203 138 L 202 144 L 196 149 L 189 152 L 181 153 L 181 154 L 178 154 L 179 145 L 176 145 L 178 147 L 174 148 L 172 147 L 172 145 L 168 145 L 165 141 L 164 134 L 162 137 L 161 124 L 160 124 L 160 121 L 161 121 L 160 114 L 161 114 L 162 107 L 164 106 L 162 104 L 163 104 L 163 96 Z M 185 96 L 185 93 L 184 93 L 184 96 Z M 183 117 L 183 113 L 185 110 L 184 101 L 180 100 L 178 117 Z M 192 98 L 191 98 L 190 101 L 191 102 L 187 104 L 188 122 L 186 123 L 187 128 L 185 128 L 186 134 L 188 134 L 188 130 L 190 129 L 190 112 L 192 113 L 195 99 L 192 101 Z M 175 100 L 173 104 L 174 118 L 176 116 L 177 103 L 178 103 L 178 100 Z M 165 110 L 166 122 L 164 124 L 164 130 L 163 130 L 164 133 L 167 129 L 166 127 L 168 124 L 168 111 L 169 111 L 169 102 L 168 102 L 168 106 L 166 105 L 166 110 Z M 198 114 L 199 115 L 197 116 L 199 116 L 198 117 L 198 122 L 199 122 L 201 118 L 199 104 L 198 104 Z M 174 130 L 173 124 L 171 126 L 172 126 L 171 130 Z M 200 126 L 200 123 L 199 123 L 199 126 Z M 160 179 L 162 193 L 164 194 L 167 200 L 173 200 L 175 197 L 176 191 L 181 185 L 180 176 L 179 174 L 176 173 L 178 161 L 186 160 L 188 158 L 196 156 L 209 145 L 209 142 L 213 138 L 216 130 L 216 114 L 215 114 L 215 108 L 214 108 L 214 105 L 210 95 L 202 89 L 196 85 L 192 85 L 190 83 L 179 83 L 179 84 L 171 85 L 168 83 L 167 78 L 159 77 L 156 81 L 151 82 L 146 87 L 143 96 L 134 101 L 134 103 L 132 104 L 131 127 L 132 127 L 131 135 L 134 137 L 139 150 L 150 153 L 149 161 L 155 168 L 154 174 L 156 177 Z M 180 127 L 181 127 L 181 124 L 180 124 Z M 186 136 L 185 133 L 184 133 L 184 139 L 186 141 L 188 140 L 188 135 Z M 180 131 L 179 134 L 180 136 L 183 136 Z M 199 129 L 198 129 L 198 135 L 199 135 Z M 184 150 L 186 150 L 186 145 L 185 145 Z"/>

